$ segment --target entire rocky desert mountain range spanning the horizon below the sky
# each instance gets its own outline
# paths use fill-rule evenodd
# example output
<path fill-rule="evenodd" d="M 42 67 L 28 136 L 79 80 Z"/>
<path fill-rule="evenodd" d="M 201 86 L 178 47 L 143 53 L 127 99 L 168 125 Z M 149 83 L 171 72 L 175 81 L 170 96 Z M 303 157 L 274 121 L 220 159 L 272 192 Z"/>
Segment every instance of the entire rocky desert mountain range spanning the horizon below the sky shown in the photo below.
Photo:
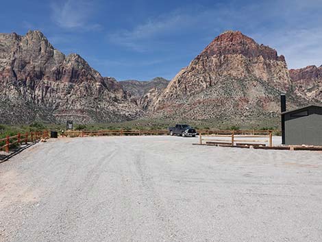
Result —
<path fill-rule="evenodd" d="M 284 56 L 240 32 L 216 37 L 169 83 L 116 82 L 38 31 L 0 34 L 0 123 L 119 122 L 145 117 L 277 125 L 288 108 L 321 104 L 322 67 L 288 71 Z M 226 126 L 227 127 L 227 126 Z"/>

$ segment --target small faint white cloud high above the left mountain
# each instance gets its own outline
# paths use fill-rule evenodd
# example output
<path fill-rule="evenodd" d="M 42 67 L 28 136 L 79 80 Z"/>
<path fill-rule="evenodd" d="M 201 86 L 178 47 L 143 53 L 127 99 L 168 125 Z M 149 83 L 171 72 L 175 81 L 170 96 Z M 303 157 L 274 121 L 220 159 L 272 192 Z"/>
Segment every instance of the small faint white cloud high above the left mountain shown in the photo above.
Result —
<path fill-rule="evenodd" d="M 98 30 L 101 25 L 90 23 L 94 13 L 92 1 L 67 0 L 61 3 L 51 3 L 51 19 L 60 27 L 66 29 Z"/>

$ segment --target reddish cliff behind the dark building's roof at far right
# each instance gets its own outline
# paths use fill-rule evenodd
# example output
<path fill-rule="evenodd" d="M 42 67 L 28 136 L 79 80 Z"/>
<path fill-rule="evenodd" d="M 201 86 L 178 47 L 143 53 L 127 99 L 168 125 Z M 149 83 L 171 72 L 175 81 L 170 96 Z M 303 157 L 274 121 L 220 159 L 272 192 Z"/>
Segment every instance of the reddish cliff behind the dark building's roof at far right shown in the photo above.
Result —
<path fill-rule="evenodd" d="M 297 96 L 310 101 L 310 104 L 322 102 L 322 66 L 306 66 L 302 69 L 291 69 L 294 92 Z"/>

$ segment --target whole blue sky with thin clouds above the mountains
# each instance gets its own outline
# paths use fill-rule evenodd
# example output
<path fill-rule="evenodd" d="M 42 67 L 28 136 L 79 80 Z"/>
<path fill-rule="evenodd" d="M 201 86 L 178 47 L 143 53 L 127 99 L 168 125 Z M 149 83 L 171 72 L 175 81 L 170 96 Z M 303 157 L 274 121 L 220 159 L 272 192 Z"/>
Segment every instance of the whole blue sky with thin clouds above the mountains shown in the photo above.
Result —
<path fill-rule="evenodd" d="M 168 79 L 225 30 L 286 56 L 289 68 L 322 64 L 322 0 L 3 1 L 0 32 L 42 31 L 103 76 Z"/>

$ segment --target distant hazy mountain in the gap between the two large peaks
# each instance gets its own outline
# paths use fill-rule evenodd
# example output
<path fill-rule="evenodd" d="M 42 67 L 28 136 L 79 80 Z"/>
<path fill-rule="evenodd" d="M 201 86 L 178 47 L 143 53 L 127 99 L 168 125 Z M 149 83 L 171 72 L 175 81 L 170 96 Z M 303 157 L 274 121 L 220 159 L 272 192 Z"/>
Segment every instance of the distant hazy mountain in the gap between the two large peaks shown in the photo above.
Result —
<path fill-rule="evenodd" d="M 143 110 L 148 110 L 153 101 L 156 101 L 160 93 L 168 86 L 169 80 L 156 77 L 151 81 L 142 82 L 127 80 L 119 82 L 123 89 L 132 95 L 132 100 Z"/>

